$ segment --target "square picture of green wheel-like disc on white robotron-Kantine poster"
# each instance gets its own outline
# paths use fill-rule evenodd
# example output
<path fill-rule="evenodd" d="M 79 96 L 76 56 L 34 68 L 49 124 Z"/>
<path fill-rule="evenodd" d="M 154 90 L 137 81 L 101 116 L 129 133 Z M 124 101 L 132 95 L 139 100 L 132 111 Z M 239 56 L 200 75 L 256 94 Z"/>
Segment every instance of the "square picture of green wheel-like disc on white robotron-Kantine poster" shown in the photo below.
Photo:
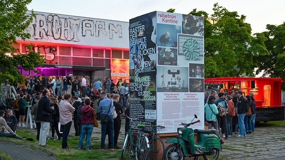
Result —
<path fill-rule="evenodd" d="M 204 37 L 178 34 L 178 64 L 204 63 Z"/>

